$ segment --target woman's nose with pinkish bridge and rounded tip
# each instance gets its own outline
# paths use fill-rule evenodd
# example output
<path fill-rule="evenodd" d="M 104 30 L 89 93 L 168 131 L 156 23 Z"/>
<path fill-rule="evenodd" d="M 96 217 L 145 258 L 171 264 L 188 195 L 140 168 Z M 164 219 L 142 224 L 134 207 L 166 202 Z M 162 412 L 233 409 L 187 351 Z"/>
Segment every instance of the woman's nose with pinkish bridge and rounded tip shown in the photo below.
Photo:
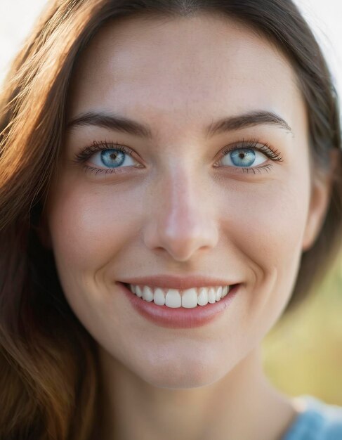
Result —
<path fill-rule="evenodd" d="M 215 247 L 218 228 L 213 200 L 198 180 L 183 171 L 154 183 L 145 229 L 150 250 L 164 250 L 176 261 L 188 261 L 197 251 Z"/>

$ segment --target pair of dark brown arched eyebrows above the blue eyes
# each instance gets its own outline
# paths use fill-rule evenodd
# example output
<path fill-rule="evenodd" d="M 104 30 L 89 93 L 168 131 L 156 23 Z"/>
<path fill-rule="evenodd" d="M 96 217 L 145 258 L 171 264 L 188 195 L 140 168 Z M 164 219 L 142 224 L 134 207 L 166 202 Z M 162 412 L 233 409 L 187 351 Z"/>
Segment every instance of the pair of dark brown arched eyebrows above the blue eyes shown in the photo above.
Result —
<path fill-rule="evenodd" d="M 243 115 L 223 117 L 216 122 L 211 122 L 206 127 L 206 136 L 214 136 L 226 131 L 234 131 L 244 129 L 245 127 L 254 127 L 256 125 L 273 125 L 291 133 L 291 127 L 274 112 L 256 110 Z M 96 126 L 103 127 L 114 131 L 121 131 L 127 134 L 133 134 L 143 138 L 151 139 L 153 137 L 152 130 L 149 126 L 141 124 L 121 115 L 107 112 L 84 112 L 73 117 L 67 124 L 67 130 L 74 127 Z"/>

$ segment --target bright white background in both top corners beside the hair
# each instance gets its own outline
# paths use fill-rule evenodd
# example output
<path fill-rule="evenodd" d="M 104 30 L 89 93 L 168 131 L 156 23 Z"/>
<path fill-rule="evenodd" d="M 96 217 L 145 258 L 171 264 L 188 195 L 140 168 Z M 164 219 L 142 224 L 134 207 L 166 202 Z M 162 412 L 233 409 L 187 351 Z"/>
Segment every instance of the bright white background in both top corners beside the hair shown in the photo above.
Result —
<path fill-rule="evenodd" d="M 342 1 L 295 0 L 328 60 L 342 97 Z M 0 84 L 16 51 L 47 0 L 0 0 Z"/>

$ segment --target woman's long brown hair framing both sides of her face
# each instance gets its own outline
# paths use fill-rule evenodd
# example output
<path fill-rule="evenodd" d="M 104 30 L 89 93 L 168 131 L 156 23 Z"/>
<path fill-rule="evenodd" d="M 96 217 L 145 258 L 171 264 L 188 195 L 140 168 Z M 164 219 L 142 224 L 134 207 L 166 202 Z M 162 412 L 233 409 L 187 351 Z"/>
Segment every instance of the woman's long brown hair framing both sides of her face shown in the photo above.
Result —
<path fill-rule="evenodd" d="M 291 0 L 56 0 L 18 54 L 0 102 L 0 438 L 90 439 L 99 408 L 96 344 L 67 304 L 38 238 L 63 145 L 73 67 L 107 20 L 218 13 L 266 37 L 291 61 L 308 108 L 315 171 L 338 152 L 320 236 L 303 253 L 287 311 L 309 292 L 341 240 L 341 131 L 331 75 Z M 318 279 L 318 278 L 317 278 Z"/>

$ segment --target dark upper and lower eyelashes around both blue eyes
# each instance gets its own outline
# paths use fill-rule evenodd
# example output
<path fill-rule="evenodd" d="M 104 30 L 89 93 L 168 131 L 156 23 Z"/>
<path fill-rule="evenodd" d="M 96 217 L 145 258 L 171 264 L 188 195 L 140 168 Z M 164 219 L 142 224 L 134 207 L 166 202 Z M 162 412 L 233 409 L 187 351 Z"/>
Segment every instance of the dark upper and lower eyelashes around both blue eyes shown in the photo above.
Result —
<path fill-rule="evenodd" d="M 257 147 L 258 144 L 261 144 L 260 147 Z M 282 156 L 280 155 L 279 151 L 275 148 L 270 147 L 268 143 L 261 143 L 258 141 L 258 139 L 242 139 L 242 141 L 238 141 L 236 143 L 233 143 L 232 145 L 229 145 L 227 148 L 225 148 L 221 152 L 221 157 L 227 155 L 228 153 L 232 153 L 232 151 L 235 150 L 242 150 L 242 149 L 249 149 L 249 150 L 255 150 L 259 151 L 260 153 L 263 153 L 266 157 L 268 157 L 273 162 L 282 162 Z M 127 155 L 132 156 L 133 150 L 131 148 L 126 147 L 126 145 L 119 145 L 117 142 L 107 142 L 107 141 L 93 141 L 92 145 L 89 145 L 88 147 L 84 148 L 81 152 L 77 153 L 75 155 L 74 162 L 77 164 L 84 163 L 86 160 L 89 159 L 94 153 L 98 153 L 98 151 L 102 150 L 119 150 L 123 153 L 126 153 Z M 239 172 L 256 172 L 261 173 L 263 170 L 269 172 L 270 168 L 272 167 L 272 164 L 265 164 L 261 165 L 260 167 L 254 167 L 254 168 L 244 168 L 244 167 L 231 167 L 235 170 L 238 170 Z M 124 167 L 125 168 L 125 167 Z M 119 174 L 121 168 L 109 168 L 109 169 L 101 169 L 96 167 L 89 167 L 88 165 L 84 165 L 84 170 L 86 172 L 96 173 L 97 174 Z"/>

